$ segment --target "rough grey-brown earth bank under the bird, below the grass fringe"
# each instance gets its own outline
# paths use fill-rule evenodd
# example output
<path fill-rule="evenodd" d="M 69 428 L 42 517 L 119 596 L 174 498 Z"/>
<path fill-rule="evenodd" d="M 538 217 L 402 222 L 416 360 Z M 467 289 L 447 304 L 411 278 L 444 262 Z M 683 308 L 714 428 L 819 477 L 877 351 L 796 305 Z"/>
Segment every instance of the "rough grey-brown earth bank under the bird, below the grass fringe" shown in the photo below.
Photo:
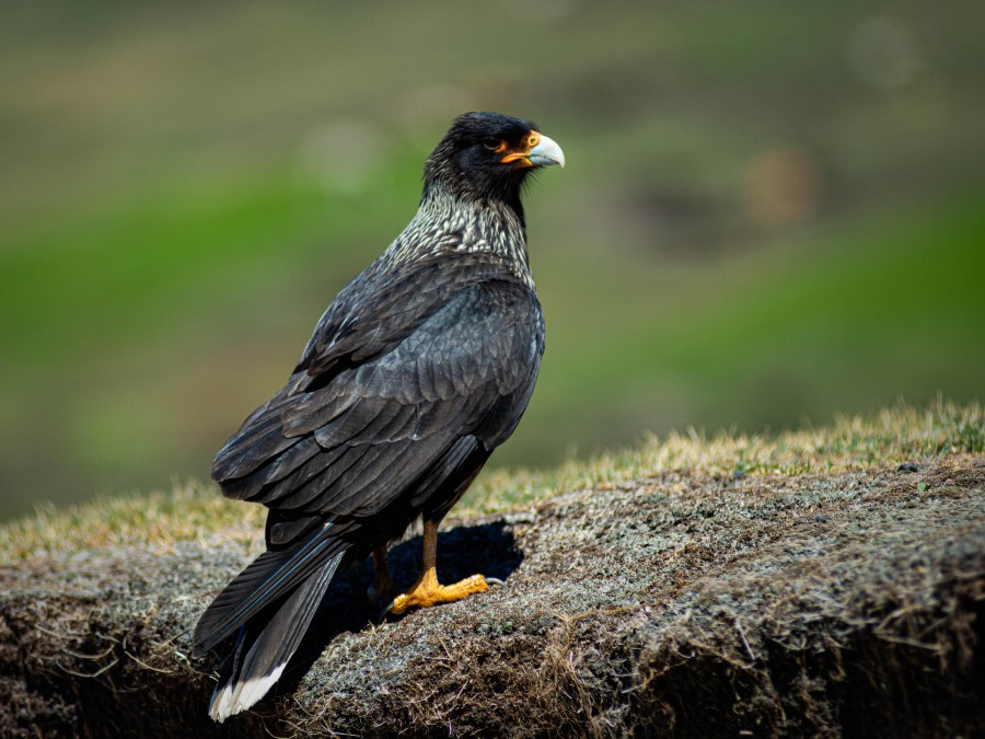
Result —
<path fill-rule="evenodd" d="M 445 529 L 443 580 L 507 587 L 373 626 L 354 568 L 277 694 L 221 726 L 189 632 L 242 540 L 3 566 L 0 735 L 985 731 L 981 457 L 668 473 Z M 412 580 L 419 539 L 392 561 Z"/>

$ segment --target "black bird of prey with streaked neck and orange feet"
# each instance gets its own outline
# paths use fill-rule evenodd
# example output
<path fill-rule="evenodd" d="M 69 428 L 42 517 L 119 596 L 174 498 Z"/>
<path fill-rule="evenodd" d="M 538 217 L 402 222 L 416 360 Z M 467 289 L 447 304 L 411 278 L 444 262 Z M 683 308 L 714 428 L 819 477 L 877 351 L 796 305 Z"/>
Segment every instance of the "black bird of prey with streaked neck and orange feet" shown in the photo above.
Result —
<path fill-rule="evenodd" d="M 268 508 L 266 550 L 201 614 L 194 654 L 235 636 L 209 703 L 217 721 L 280 679 L 333 577 L 371 557 L 385 612 L 461 600 L 442 585 L 438 527 L 523 415 L 544 353 L 521 201 L 565 154 L 530 120 L 454 119 L 428 155 L 417 212 L 318 320 L 283 388 L 225 442 L 223 495 Z M 386 547 L 422 521 L 404 592 Z"/>

